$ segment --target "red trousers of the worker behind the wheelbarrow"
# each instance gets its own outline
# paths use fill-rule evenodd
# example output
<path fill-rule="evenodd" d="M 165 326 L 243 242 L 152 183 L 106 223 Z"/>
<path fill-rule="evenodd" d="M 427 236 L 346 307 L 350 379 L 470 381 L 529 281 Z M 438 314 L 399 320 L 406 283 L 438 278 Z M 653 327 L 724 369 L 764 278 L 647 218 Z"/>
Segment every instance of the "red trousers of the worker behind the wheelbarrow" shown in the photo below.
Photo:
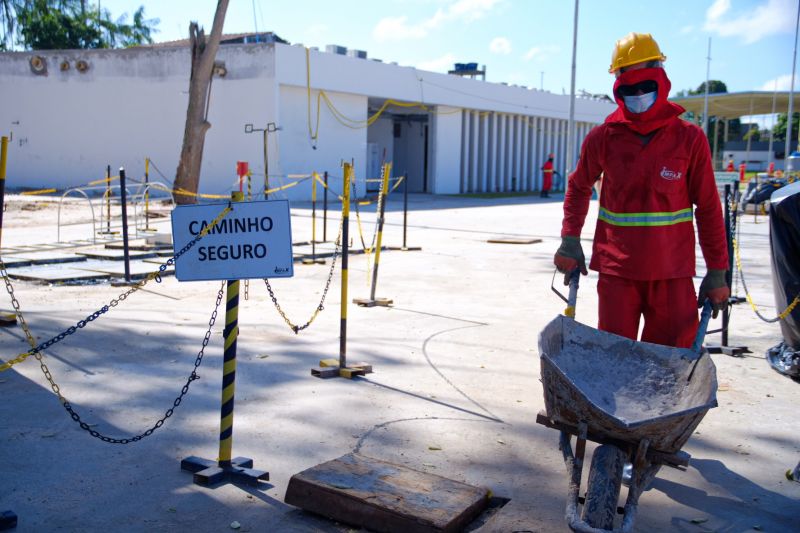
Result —
<path fill-rule="evenodd" d="M 699 323 L 692 278 L 637 281 L 600 274 L 598 329 L 636 340 L 689 348 Z"/>

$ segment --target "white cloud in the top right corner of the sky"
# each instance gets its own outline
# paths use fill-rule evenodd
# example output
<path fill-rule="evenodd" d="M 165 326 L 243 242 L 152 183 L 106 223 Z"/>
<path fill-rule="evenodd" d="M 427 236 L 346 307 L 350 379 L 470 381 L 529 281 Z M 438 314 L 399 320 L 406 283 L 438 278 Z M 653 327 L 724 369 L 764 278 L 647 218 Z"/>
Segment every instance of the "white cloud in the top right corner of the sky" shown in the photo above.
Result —
<path fill-rule="evenodd" d="M 730 0 L 716 0 L 706 11 L 703 29 L 721 37 L 741 37 L 751 44 L 768 35 L 792 32 L 797 4 L 793 0 L 766 0 L 736 15 L 730 10 Z"/>

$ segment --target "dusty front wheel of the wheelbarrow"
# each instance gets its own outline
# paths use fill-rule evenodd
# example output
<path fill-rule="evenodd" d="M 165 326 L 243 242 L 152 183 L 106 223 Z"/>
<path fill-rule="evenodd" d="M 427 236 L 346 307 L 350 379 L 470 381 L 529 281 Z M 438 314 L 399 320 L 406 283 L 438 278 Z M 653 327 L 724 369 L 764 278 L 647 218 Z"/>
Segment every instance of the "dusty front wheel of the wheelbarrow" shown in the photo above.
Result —
<path fill-rule="evenodd" d="M 583 520 L 590 526 L 599 529 L 614 528 L 622 468 L 626 459 L 625 452 L 611 444 L 595 449 L 583 505 Z"/>

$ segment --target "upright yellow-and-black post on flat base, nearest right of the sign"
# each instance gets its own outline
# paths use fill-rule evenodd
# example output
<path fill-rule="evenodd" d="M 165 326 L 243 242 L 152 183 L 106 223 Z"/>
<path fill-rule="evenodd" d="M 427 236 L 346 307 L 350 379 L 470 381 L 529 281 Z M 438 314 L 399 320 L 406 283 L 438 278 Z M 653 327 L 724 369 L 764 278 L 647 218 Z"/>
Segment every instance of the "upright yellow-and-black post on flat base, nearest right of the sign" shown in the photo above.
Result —
<path fill-rule="evenodd" d="M 358 363 L 347 366 L 347 256 L 350 251 L 350 184 L 353 179 L 353 164 L 344 163 L 344 184 L 342 185 L 342 292 L 339 326 L 339 360 L 323 359 L 318 368 L 311 369 L 311 375 L 318 378 L 361 376 L 372 372 L 372 366 Z"/>

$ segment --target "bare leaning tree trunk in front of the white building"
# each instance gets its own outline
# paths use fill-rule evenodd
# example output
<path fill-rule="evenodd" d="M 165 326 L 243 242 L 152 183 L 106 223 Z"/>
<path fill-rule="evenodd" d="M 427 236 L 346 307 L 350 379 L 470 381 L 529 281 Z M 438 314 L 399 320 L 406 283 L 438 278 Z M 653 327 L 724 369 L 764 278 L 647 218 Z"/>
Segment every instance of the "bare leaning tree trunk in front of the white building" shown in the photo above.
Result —
<path fill-rule="evenodd" d="M 189 24 L 189 39 L 192 52 L 192 73 L 189 78 L 189 106 L 186 109 L 186 127 L 183 131 L 183 148 L 172 196 L 178 205 L 197 203 L 197 189 L 200 185 L 200 167 L 203 162 L 203 145 L 206 132 L 211 127 L 207 120 L 208 100 L 211 97 L 211 76 L 214 58 L 222 37 L 222 26 L 228 0 L 217 1 L 211 35 L 206 39 L 205 32 L 196 22 Z"/>

